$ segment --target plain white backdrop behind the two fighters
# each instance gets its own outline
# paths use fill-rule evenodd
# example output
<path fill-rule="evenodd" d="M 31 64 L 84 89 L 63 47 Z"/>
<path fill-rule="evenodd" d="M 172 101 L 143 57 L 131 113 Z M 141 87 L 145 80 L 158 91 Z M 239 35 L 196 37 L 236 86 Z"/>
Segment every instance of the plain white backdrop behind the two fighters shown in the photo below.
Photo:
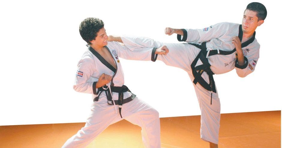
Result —
<path fill-rule="evenodd" d="M 98 17 L 108 35 L 138 35 L 178 42 L 165 27 L 200 29 L 219 22 L 241 23 L 248 3 L 229 1 L 9 1 L 0 2 L 0 125 L 85 122 L 91 94 L 72 88 L 85 51 L 78 31 Z M 280 7 L 268 10 L 256 30 L 261 45 L 256 70 L 215 75 L 221 113 L 281 110 Z M 200 115 L 193 85 L 182 69 L 162 62 L 121 60 L 125 85 L 155 107 L 160 117 Z M 177 87 L 178 91 L 173 91 Z"/>

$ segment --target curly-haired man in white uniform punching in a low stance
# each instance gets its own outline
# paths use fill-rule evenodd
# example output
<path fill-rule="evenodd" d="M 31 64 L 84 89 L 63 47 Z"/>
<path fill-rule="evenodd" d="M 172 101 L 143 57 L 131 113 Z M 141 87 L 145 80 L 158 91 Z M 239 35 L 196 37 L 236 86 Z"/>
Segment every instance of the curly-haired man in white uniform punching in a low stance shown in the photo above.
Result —
<path fill-rule="evenodd" d="M 119 57 L 151 60 L 155 54 L 166 55 L 168 49 L 162 46 L 158 49 L 129 50 L 118 42 L 107 42 L 104 23 L 98 18 L 83 20 L 79 33 L 87 42 L 87 51 L 77 64 L 73 89 L 92 94 L 94 103 L 85 126 L 68 139 L 63 147 L 86 147 L 109 125 L 122 119 L 142 128 L 145 147 L 161 147 L 159 113 L 124 85 Z M 122 139 L 118 134 L 116 137 Z"/>

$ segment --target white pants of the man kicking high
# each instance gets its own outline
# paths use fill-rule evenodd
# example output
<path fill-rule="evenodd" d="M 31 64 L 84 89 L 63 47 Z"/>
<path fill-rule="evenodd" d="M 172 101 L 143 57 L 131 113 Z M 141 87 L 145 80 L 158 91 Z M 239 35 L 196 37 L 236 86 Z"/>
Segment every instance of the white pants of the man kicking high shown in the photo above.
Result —
<path fill-rule="evenodd" d="M 199 48 L 184 43 L 162 43 L 144 37 L 124 37 L 122 40 L 129 49 L 135 50 L 144 47 L 159 48 L 166 45 L 170 50 L 169 53 L 167 55 L 158 55 L 157 60 L 163 61 L 166 65 L 185 70 L 190 79 L 192 81 L 194 80 L 190 65 L 199 54 Z M 196 66 L 200 64 L 202 63 L 197 63 Z M 208 74 L 206 72 L 202 73 L 202 77 L 206 82 L 209 82 Z M 220 126 L 220 101 L 218 94 L 212 93 L 211 104 L 211 91 L 206 90 L 199 83 L 196 85 L 193 83 L 193 85 L 201 109 L 201 139 L 217 144 Z"/>

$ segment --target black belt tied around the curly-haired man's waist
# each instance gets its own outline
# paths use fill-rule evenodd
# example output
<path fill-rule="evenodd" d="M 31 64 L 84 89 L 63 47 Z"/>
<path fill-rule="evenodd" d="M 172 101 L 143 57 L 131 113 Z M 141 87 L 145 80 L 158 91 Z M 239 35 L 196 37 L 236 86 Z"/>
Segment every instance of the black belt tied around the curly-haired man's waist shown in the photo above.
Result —
<path fill-rule="evenodd" d="M 106 88 L 105 88 L 105 87 L 106 87 Z M 100 91 L 100 93 L 98 94 L 97 97 L 94 98 L 93 101 L 98 101 L 98 100 L 99 100 L 99 97 L 100 97 L 100 94 L 101 94 L 103 91 L 105 91 L 106 96 L 107 96 L 107 100 L 108 100 L 108 104 L 109 104 L 109 105 L 114 105 L 114 104 L 119 105 L 119 115 L 120 115 L 120 117 L 122 118 L 122 113 L 121 113 L 121 112 L 122 112 L 122 104 L 125 104 L 125 103 L 128 103 L 128 102 L 132 101 L 132 100 L 135 98 L 136 95 L 135 95 L 135 94 L 132 94 L 130 97 L 128 97 L 128 98 L 126 98 L 126 99 L 123 99 L 123 93 L 124 93 L 124 92 L 127 92 L 127 91 L 131 92 L 131 91 L 128 89 L 128 87 L 125 86 L 125 85 L 122 85 L 121 87 L 118 87 L 118 86 L 110 86 L 112 92 L 117 92 L 117 93 L 119 93 L 119 100 L 113 100 L 112 95 L 110 94 L 110 89 L 107 88 L 107 87 L 108 87 L 108 86 L 104 85 L 104 86 L 98 88 L 97 94 L 99 93 L 99 91 Z"/>

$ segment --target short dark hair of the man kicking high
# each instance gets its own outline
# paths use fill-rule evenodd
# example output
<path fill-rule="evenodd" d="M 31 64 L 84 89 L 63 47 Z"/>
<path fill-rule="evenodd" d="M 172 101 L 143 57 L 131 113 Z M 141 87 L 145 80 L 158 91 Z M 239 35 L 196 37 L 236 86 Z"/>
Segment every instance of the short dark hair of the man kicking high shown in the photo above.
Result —
<path fill-rule="evenodd" d="M 258 2 L 250 3 L 249 5 L 247 5 L 246 10 L 255 11 L 258 20 L 264 20 L 267 15 L 265 6 Z"/>

